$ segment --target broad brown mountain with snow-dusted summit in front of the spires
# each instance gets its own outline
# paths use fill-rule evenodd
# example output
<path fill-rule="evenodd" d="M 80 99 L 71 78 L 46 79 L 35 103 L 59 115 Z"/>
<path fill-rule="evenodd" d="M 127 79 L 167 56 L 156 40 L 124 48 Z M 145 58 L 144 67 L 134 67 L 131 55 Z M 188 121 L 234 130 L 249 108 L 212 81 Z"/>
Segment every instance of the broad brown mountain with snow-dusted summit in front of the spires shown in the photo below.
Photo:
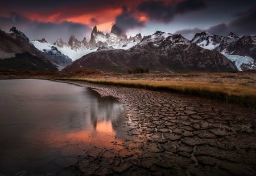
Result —
<path fill-rule="evenodd" d="M 130 49 L 99 50 L 77 59 L 64 70 L 99 68 L 108 71 L 127 71 L 130 68 L 152 71 L 232 71 L 237 70 L 218 51 L 202 49 L 181 35 L 157 31 L 144 37 Z"/>

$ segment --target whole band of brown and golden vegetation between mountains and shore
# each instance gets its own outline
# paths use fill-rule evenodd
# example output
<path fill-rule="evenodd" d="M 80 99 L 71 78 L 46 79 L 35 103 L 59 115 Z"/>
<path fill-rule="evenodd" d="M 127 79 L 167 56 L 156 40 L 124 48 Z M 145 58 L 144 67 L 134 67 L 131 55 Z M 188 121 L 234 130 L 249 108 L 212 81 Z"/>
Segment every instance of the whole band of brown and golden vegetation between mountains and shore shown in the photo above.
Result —
<path fill-rule="evenodd" d="M 0 78 L 79 80 L 96 84 L 170 91 L 222 100 L 256 109 L 256 72 L 192 72 L 187 74 L 115 74 L 95 69 L 68 72 L 0 70 Z"/>

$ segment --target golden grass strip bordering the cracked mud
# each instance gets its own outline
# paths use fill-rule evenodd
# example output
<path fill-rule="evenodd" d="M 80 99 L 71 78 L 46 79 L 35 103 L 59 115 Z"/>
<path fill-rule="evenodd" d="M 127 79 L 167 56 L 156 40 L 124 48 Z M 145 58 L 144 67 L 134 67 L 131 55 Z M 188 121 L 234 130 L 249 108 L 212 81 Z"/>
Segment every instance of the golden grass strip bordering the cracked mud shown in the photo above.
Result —
<path fill-rule="evenodd" d="M 168 91 L 221 100 L 251 109 L 256 109 L 256 89 L 244 84 L 210 84 L 190 81 L 128 80 L 120 78 L 70 78 L 94 84 L 117 85 L 130 88 L 144 88 L 153 91 Z"/>

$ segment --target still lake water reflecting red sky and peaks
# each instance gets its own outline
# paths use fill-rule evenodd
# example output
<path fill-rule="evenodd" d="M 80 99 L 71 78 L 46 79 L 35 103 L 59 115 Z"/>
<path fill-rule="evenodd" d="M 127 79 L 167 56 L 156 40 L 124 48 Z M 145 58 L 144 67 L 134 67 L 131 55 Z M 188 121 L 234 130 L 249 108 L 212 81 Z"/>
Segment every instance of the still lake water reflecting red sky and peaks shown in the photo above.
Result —
<path fill-rule="evenodd" d="M 0 175 L 69 175 L 85 149 L 108 147 L 124 109 L 92 89 L 0 80 Z"/>

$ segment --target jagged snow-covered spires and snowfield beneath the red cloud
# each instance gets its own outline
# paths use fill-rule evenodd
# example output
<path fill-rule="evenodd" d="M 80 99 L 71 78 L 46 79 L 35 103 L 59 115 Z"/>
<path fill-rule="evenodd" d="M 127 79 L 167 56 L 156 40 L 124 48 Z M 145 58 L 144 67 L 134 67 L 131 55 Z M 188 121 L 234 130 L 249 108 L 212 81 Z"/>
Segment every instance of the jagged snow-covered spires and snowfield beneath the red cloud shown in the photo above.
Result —
<path fill-rule="evenodd" d="M 83 55 L 97 50 L 129 49 L 138 44 L 138 42 L 141 42 L 141 40 L 141 34 L 127 38 L 126 34 L 114 24 L 111 32 L 106 34 L 98 31 L 96 26 L 93 27 L 89 42 L 86 41 L 85 37 L 82 41 L 79 41 L 75 38 L 75 36 L 71 36 L 67 43 L 61 38 L 57 39 L 53 44 L 49 44 L 48 42 L 40 42 L 38 40 L 33 40 L 31 42 L 41 51 L 51 50 L 53 46 L 58 51 L 75 61 L 76 59 L 81 58 Z"/>

